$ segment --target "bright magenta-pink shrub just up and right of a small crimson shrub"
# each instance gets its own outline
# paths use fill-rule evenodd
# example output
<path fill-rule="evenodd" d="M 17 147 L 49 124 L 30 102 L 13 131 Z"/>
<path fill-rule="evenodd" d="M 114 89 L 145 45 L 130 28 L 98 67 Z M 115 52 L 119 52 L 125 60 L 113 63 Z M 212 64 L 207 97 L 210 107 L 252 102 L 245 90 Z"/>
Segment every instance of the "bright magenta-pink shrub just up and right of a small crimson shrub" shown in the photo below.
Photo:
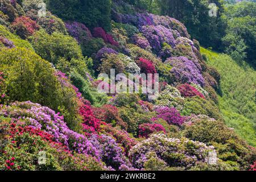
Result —
<path fill-rule="evenodd" d="M 155 111 L 158 115 L 155 118 L 152 118 L 153 121 L 156 119 L 164 119 L 169 125 L 179 126 L 184 122 L 183 117 L 174 107 L 157 106 Z"/>

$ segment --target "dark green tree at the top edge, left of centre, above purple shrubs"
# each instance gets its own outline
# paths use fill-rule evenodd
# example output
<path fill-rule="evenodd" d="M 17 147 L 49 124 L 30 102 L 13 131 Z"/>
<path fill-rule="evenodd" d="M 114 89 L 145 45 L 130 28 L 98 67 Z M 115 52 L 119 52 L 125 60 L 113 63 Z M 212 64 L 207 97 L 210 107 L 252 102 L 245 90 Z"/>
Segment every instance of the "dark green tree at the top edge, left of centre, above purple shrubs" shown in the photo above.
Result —
<path fill-rule="evenodd" d="M 110 0 L 47 0 L 49 11 L 64 20 L 76 20 L 86 27 L 111 29 Z"/>

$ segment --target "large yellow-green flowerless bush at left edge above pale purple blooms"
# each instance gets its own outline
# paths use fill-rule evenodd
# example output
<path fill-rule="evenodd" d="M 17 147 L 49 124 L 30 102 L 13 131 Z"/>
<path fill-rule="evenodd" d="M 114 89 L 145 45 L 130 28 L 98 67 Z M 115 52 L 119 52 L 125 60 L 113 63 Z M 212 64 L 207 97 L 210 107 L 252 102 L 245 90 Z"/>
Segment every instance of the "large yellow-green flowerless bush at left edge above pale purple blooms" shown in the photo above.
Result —
<path fill-rule="evenodd" d="M 78 130 L 76 92 L 57 79 L 48 61 L 25 48 L 2 49 L 0 70 L 6 76 L 10 101 L 32 101 L 59 110 L 68 126 Z"/>

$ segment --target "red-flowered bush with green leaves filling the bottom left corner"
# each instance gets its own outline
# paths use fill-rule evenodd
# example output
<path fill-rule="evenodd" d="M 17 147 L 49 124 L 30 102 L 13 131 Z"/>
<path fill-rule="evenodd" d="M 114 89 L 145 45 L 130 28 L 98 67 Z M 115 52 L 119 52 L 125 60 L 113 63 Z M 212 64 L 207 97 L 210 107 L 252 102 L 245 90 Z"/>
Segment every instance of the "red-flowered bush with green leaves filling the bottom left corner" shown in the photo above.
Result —
<path fill-rule="evenodd" d="M 15 121 L 22 122 L 22 121 Z M 96 158 L 85 154 L 72 154 L 67 146 L 52 141 L 52 135 L 31 126 L 14 122 L 1 127 L 5 134 L 0 154 L 1 170 L 102 170 Z M 40 151 L 46 152 L 46 164 L 39 165 Z"/>

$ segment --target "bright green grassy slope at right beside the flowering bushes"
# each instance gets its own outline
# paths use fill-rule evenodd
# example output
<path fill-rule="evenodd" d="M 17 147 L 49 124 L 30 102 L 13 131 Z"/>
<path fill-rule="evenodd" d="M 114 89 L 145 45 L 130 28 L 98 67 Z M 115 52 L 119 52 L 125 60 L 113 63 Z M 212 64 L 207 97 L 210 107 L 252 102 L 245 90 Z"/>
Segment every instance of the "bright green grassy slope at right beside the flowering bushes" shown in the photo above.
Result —
<path fill-rule="evenodd" d="M 219 106 L 226 125 L 256 146 L 256 71 L 246 63 L 238 65 L 231 57 L 201 48 L 207 64 L 221 75 Z"/>

